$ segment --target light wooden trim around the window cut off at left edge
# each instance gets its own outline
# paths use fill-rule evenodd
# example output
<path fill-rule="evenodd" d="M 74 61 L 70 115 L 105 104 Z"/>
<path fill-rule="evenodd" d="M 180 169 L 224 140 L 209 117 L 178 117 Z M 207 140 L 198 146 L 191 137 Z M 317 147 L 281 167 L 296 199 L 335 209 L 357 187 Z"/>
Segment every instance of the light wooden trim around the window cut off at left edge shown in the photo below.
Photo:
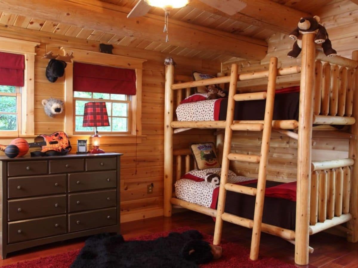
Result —
<path fill-rule="evenodd" d="M 12 39 L 0 36 L 0 51 L 25 56 L 24 86 L 21 92 L 21 113 L 19 116 L 19 134 L 20 136 L 32 136 L 35 134 L 34 126 L 34 103 L 35 103 L 35 48 L 40 43 Z M 10 133 L 11 132 L 11 133 Z M 4 133 L 0 131 L 3 137 L 14 136 L 14 132 Z"/>

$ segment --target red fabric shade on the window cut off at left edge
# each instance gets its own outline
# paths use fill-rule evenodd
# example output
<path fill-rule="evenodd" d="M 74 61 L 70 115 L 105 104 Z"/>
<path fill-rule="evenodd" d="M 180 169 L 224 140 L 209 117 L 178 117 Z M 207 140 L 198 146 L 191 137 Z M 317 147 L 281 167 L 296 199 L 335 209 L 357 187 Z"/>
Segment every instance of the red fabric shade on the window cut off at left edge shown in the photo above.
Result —
<path fill-rule="evenodd" d="M 0 52 L 0 85 L 24 86 L 25 57 Z"/>

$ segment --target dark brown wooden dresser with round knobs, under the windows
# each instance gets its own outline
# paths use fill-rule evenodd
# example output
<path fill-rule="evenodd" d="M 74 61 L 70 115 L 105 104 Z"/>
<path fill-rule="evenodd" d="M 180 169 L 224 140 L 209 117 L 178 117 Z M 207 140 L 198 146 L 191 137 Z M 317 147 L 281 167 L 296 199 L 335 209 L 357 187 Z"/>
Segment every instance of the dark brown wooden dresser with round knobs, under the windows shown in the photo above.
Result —
<path fill-rule="evenodd" d="M 120 232 L 120 156 L 0 157 L 1 256 Z"/>

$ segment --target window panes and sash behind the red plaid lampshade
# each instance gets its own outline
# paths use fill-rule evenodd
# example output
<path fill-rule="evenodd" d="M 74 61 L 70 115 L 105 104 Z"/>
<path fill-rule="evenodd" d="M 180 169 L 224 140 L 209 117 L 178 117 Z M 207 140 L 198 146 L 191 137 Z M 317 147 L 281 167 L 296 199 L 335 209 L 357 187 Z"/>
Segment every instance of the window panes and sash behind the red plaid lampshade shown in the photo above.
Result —
<path fill-rule="evenodd" d="M 110 126 L 99 126 L 100 133 L 130 134 L 131 131 L 131 96 L 124 94 L 73 92 L 74 133 L 93 133 L 95 128 L 83 127 L 84 104 L 88 101 L 105 101 Z"/>

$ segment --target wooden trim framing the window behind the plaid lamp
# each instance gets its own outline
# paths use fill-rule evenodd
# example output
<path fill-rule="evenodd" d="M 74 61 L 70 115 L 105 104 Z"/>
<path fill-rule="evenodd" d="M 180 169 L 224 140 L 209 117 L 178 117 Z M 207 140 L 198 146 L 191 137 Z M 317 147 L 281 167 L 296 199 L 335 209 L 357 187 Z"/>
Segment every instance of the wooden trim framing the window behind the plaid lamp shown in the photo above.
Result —
<path fill-rule="evenodd" d="M 47 46 L 47 51 L 54 51 L 54 54 L 65 55 L 73 51 L 73 61 L 91 63 L 98 65 L 108 65 L 112 67 L 134 69 L 136 71 L 136 95 L 132 96 L 132 116 L 131 116 L 131 134 L 116 135 L 117 137 L 141 137 L 142 136 L 142 68 L 145 59 L 131 58 L 115 54 L 106 54 L 95 51 Z M 65 132 L 73 135 L 73 63 L 68 63 L 65 71 Z M 115 135 L 103 134 L 102 136 Z M 130 139 L 133 140 L 133 139 Z M 135 138 L 137 141 L 137 139 Z"/>

